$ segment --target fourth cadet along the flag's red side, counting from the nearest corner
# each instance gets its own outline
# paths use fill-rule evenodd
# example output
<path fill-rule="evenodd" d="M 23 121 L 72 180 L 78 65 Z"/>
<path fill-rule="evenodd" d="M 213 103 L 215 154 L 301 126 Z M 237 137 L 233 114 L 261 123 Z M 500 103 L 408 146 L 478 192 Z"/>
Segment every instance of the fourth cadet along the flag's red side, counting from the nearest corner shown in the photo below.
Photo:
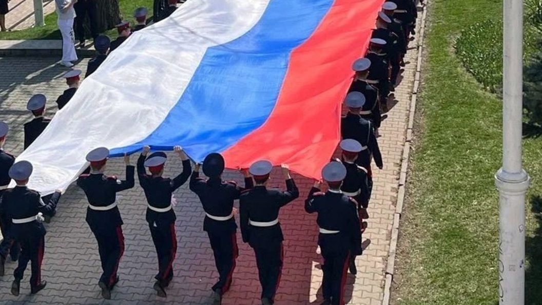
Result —
<path fill-rule="evenodd" d="M 363 104 L 359 115 L 364 119 L 371 120 L 375 126 L 375 134 L 378 137 L 378 129 L 382 122 L 382 114 L 380 113 L 378 101 L 378 89 L 371 85 L 371 81 L 367 79 L 370 67 L 371 61 L 367 58 L 360 58 L 354 61 L 352 69 L 356 72 L 356 76 L 354 77 L 354 81 L 348 92 L 357 91 L 363 93 L 363 96 L 365 96 L 365 103 Z"/>

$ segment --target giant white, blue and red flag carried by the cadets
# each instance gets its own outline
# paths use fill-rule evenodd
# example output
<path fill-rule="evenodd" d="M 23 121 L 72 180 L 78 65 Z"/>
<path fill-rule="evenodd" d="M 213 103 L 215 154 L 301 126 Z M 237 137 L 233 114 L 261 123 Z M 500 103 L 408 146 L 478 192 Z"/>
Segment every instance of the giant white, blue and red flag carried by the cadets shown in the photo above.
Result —
<path fill-rule="evenodd" d="M 320 178 L 340 140 L 352 62 L 383 0 L 190 0 L 135 32 L 18 157 L 29 187 L 66 189 L 96 147 L 181 145 L 228 168 L 287 163 Z"/>

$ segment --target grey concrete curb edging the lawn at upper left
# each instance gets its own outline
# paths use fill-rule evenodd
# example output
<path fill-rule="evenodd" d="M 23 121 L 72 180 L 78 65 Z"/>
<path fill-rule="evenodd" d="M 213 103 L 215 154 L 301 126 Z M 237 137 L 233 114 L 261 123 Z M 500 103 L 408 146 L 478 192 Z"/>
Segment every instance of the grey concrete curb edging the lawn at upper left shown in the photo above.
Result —
<path fill-rule="evenodd" d="M 96 56 L 94 45 L 75 48 L 79 58 Z M 60 57 L 62 40 L 0 40 L 0 56 L 3 57 Z"/>

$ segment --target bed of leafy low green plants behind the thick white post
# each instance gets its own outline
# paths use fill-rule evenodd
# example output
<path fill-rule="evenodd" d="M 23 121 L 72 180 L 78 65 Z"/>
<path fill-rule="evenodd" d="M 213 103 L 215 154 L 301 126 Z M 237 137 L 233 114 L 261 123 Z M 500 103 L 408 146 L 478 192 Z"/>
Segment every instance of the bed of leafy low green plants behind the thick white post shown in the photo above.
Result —
<path fill-rule="evenodd" d="M 539 47 L 535 37 L 540 32 L 530 22 L 526 18 L 524 59 L 531 58 Z M 502 20 L 478 22 L 463 29 L 455 42 L 455 51 L 463 66 L 482 86 L 492 93 L 501 92 Z"/>

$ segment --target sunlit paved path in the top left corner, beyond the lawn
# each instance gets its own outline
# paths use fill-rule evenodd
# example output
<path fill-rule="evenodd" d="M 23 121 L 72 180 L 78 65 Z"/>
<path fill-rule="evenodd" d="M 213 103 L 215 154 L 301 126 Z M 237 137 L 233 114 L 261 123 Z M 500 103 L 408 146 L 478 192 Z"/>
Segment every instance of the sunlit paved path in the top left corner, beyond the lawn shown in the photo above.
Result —
<path fill-rule="evenodd" d="M 54 0 L 43 0 L 43 15 L 55 11 Z M 9 12 L 5 15 L 5 26 L 9 30 L 22 30 L 34 27 L 34 0 L 11 0 Z"/>

